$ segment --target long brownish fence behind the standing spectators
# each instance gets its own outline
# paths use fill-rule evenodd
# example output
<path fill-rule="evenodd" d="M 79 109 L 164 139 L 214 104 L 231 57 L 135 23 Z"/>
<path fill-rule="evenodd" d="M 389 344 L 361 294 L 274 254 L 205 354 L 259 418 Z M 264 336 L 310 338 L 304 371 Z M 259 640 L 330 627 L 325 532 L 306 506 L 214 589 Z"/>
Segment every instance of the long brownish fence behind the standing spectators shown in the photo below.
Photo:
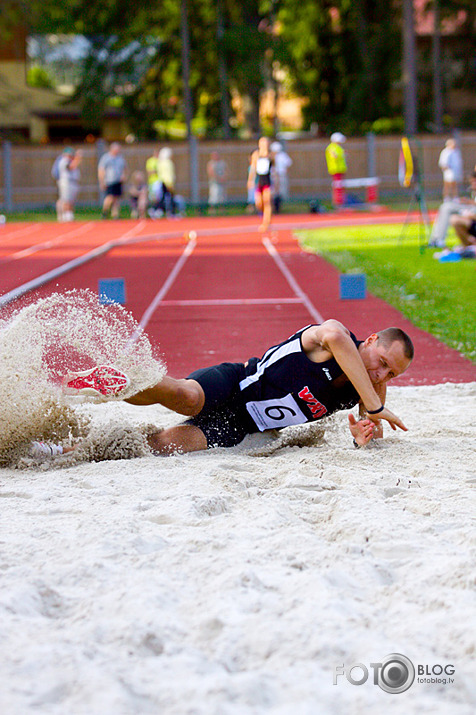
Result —
<path fill-rule="evenodd" d="M 414 154 L 422 170 L 427 198 L 440 198 L 442 187 L 438 157 L 444 146 L 444 136 L 420 136 L 413 141 Z M 358 139 L 348 139 L 345 144 L 348 179 L 377 176 L 380 179 L 380 196 L 408 196 L 408 191 L 400 187 L 398 181 L 398 159 L 400 137 L 377 137 L 368 135 Z M 465 177 L 476 164 L 476 132 L 461 133 L 458 141 L 464 160 Z M 285 147 L 293 160 L 289 169 L 291 200 L 326 200 L 330 195 L 330 181 L 325 162 L 326 139 L 295 139 L 285 142 Z M 77 145 L 76 145 L 77 146 Z M 124 144 L 123 154 L 129 174 L 137 169 L 145 170 L 145 162 L 156 148 L 163 144 Z M 246 181 L 250 153 L 256 142 L 223 141 L 198 143 L 198 186 L 192 187 L 190 152 L 186 142 L 174 143 L 173 160 L 176 168 L 176 191 L 190 202 L 190 197 L 198 197 L 199 203 L 206 203 L 208 181 L 206 166 L 212 151 L 219 151 L 226 161 L 228 177 L 226 182 L 227 200 L 230 203 L 246 201 Z M 77 148 L 79 148 L 77 146 Z M 81 192 L 79 204 L 97 206 L 100 190 L 97 183 L 97 162 L 104 151 L 104 144 L 83 145 L 81 165 Z M 25 146 L 2 144 L 0 152 L 0 206 L 4 212 L 21 209 L 53 206 L 57 196 L 56 183 L 51 176 L 51 167 L 61 152 L 61 146 Z M 192 190 L 194 189 L 194 191 Z"/>

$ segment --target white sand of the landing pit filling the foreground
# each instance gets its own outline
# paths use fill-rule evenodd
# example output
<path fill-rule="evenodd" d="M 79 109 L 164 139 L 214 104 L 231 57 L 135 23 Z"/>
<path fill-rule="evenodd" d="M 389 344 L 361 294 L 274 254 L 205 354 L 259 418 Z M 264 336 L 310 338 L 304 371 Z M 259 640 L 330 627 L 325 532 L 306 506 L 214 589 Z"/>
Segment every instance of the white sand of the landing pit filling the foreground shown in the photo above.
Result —
<path fill-rule="evenodd" d="M 410 432 L 369 449 L 341 414 L 272 456 L 0 470 L 0 712 L 472 715 L 475 397 L 390 389 Z M 455 682 L 333 685 L 394 652 Z"/>

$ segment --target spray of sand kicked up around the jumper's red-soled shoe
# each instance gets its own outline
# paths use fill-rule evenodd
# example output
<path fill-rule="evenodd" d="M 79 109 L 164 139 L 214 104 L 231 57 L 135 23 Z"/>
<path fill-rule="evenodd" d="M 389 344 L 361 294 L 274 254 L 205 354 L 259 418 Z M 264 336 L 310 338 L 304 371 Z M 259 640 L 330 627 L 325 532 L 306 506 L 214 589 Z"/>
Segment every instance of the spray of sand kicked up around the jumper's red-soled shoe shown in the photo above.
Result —
<path fill-rule="evenodd" d="M 151 387 L 166 372 L 133 316 L 118 304 L 100 304 L 92 291 L 54 293 L 4 311 L 0 317 L 0 465 L 17 462 L 31 440 L 61 441 L 89 432 L 87 420 L 75 409 L 75 398 L 62 394 L 61 378 L 100 364 L 114 365 L 130 377 L 121 398 Z M 117 442 L 119 431 L 119 425 L 111 426 L 109 438 Z"/>

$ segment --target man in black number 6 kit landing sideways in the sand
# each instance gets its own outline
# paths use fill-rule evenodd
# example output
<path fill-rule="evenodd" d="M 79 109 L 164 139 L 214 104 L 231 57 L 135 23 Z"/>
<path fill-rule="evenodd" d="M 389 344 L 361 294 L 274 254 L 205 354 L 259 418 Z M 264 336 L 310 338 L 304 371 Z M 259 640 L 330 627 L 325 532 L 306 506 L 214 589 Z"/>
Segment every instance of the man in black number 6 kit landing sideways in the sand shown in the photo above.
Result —
<path fill-rule="evenodd" d="M 382 436 L 381 420 L 406 431 L 385 406 L 386 383 L 401 375 L 413 358 L 413 345 L 400 328 L 387 328 L 357 340 L 342 323 L 311 325 L 246 363 L 222 363 L 196 370 L 186 379 L 164 377 L 126 401 L 160 404 L 189 417 L 183 424 L 148 436 L 153 452 L 194 452 L 232 447 L 247 434 L 315 422 L 359 404 L 349 415 L 355 446 Z M 126 375 L 99 366 L 65 378 L 69 394 L 120 397 Z"/>

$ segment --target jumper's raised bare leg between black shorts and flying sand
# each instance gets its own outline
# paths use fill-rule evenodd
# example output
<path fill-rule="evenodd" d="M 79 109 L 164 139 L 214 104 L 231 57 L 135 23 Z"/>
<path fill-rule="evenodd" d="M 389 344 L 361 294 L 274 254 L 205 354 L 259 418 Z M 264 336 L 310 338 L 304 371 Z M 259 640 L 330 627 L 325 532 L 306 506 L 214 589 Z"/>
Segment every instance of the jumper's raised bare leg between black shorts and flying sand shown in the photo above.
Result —
<path fill-rule="evenodd" d="M 131 405 L 163 405 L 180 415 L 198 415 L 205 404 L 205 393 L 196 380 L 175 380 L 165 376 L 161 382 L 126 400 Z"/>

